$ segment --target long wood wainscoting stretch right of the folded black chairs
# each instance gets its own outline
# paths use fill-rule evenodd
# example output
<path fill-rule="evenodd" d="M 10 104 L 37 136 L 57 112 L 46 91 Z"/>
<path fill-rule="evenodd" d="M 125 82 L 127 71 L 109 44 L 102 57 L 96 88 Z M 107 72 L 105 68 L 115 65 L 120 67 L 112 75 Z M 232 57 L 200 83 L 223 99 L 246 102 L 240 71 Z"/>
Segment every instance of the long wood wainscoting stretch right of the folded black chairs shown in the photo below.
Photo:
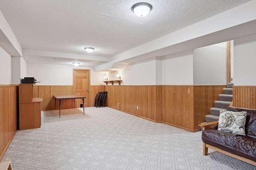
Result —
<path fill-rule="evenodd" d="M 108 91 L 108 107 L 161 121 L 161 86 L 105 86 L 105 91 Z"/>

